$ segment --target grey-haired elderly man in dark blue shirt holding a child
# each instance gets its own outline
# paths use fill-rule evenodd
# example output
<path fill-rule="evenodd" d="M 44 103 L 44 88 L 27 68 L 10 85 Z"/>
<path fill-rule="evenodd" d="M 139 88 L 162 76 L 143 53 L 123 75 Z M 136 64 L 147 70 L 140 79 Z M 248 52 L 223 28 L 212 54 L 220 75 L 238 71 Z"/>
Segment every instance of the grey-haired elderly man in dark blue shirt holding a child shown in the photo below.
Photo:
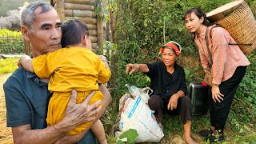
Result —
<path fill-rule="evenodd" d="M 45 2 L 33 2 L 23 7 L 21 13 L 22 36 L 32 45 L 32 57 L 57 50 L 62 30 L 56 10 Z M 66 115 L 54 126 L 46 126 L 46 114 L 51 94 L 47 79 L 39 79 L 34 73 L 18 68 L 4 84 L 7 109 L 7 126 L 12 127 L 14 143 L 95 143 L 90 130 L 66 136 L 66 133 L 82 123 L 96 122 L 111 102 L 106 86 L 101 85 L 104 95 L 100 102 L 88 105 L 92 94 L 84 102 L 76 104 L 73 90 Z M 96 114 L 96 116 L 94 116 Z"/>

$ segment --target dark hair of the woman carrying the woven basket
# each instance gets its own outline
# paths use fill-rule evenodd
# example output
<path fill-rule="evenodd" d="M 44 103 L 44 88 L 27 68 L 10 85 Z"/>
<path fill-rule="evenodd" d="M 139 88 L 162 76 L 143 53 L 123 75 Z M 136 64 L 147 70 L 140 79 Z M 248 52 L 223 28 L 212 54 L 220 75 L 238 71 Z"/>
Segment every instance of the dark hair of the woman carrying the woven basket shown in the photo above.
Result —
<path fill-rule="evenodd" d="M 214 23 L 207 21 L 206 14 L 204 14 L 200 8 L 192 8 L 190 10 L 187 10 L 184 19 L 190 17 L 190 15 L 193 12 L 194 12 L 194 14 L 196 14 L 198 16 L 198 18 L 203 18 L 203 22 L 202 22 L 203 25 L 205 25 L 205 26 L 213 26 L 214 25 Z"/>

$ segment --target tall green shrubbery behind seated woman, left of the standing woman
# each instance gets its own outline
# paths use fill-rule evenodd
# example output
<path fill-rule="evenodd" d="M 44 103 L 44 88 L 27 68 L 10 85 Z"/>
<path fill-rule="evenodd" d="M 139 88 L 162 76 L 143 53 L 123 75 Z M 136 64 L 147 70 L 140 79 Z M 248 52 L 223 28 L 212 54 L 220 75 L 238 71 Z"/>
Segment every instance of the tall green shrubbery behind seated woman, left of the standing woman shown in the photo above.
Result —
<path fill-rule="evenodd" d="M 118 0 L 118 21 L 115 29 L 117 48 L 113 55 L 114 73 L 111 81 L 114 98 L 118 99 L 124 94 L 126 83 L 133 83 L 138 87 L 149 86 L 149 80 L 143 74 L 126 75 L 126 64 L 154 62 L 159 47 L 163 46 L 164 42 L 174 40 L 182 45 L 183 52 L 180 58 L 182 66 L 183 58 L 190 55 L 198 63 L 198 49 L 194 46 L 192 35 L 186 30 L 183 15 L 192 7 L 199 6 L 208 12 L 230 1 Z M 164 30 L 165 40 L 163 39 Z M 199 65 L 186 68 L 186 73 L 189 73 L 186 75 L 189 82 L 202 79 L 196 74 L 198 70 L 202 70 Z"/>

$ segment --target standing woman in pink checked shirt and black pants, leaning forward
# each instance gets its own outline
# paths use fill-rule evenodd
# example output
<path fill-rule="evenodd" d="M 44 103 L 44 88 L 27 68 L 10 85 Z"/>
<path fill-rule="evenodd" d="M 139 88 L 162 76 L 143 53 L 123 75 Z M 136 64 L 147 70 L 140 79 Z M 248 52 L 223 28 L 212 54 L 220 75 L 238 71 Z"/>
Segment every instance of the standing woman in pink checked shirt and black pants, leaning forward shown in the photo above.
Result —
<path fill-rule="evenodd" d="M 203 14 L 202 10 L 198 8 L 188 10 L 185 14 L 185 19 L 187 30 L 194 34 L 194 42 L 198 46 L 204 70 L 212 62 L 211 126 L 210 129 L 202 130 L 199 134 L 205 137 L 206 140 L 209 139 L 210 142 L 222 141 L 224 140 L 224 126 L 234 94 L 246 74 L 246 66 L 250 62 L 238 46 L 229 45 L 229 43 L 236 42 L 225 29 L 214 27 L 213 24 L 206 22 L 206 14 Z M 210 54 L 208 54 L 207 42 Z"/>

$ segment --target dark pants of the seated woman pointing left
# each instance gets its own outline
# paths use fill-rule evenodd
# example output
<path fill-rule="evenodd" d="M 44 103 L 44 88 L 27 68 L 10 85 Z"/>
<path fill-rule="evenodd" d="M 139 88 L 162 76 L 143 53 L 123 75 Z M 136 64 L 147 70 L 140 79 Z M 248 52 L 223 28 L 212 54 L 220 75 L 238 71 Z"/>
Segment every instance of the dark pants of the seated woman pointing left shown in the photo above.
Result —
<path fill-rule="evenodd" d="M 174 110 L 167 110 L 168 102 L 165 99 L 162 99 L 158 95 L 151 95 L 149 99 L 149 106 L 151 110 L 155 111 L 159 122 L 162 122 L 163 113 L 171 115 L 180 115 L 182 118 L 183 125 L 187 120 L 192 120 L 192 104 L 189 97 L 184 96 L 178 98 L 177 108 Z"/>

